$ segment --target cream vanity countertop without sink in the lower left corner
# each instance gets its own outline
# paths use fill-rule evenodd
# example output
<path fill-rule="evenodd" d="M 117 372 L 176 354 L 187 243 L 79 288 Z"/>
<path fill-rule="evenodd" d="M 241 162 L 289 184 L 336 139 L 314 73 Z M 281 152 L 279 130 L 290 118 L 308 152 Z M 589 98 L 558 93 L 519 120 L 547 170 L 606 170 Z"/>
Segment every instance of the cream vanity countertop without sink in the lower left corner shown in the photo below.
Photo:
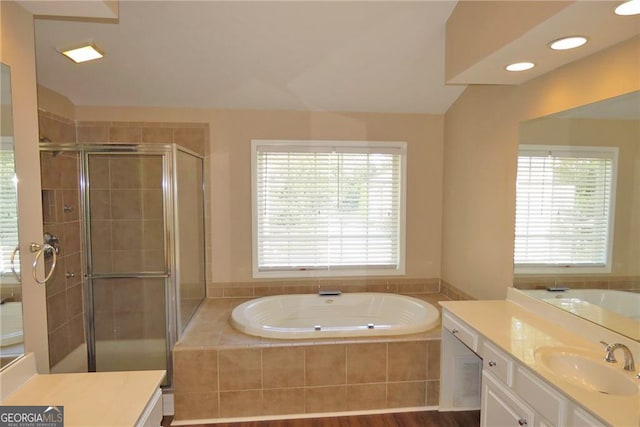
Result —
<path fill-rule="evenodd" d="M 165 371 L 33 375 L 2 405 L 64 406 L 65 426 L 133 426 Z"/>

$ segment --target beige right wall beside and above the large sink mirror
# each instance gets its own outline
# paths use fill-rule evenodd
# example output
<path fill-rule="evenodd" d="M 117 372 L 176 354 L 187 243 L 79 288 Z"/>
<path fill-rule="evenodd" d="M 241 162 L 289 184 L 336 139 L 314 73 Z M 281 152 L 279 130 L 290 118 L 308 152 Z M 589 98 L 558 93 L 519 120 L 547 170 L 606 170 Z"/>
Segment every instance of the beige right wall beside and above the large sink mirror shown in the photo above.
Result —
<path fill-rule="evenodd" d="M 442 278 L 482 299 L 513 281 L 520 122 L 640 88 L 640 37 L 521 86 L 471 86 L 445 115 Z"/>

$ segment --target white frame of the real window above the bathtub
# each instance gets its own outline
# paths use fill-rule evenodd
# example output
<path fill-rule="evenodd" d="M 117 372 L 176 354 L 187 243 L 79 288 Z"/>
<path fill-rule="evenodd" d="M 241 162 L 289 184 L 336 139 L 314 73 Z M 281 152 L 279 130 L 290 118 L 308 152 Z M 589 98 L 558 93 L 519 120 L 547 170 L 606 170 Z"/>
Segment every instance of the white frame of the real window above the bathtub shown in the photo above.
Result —
<path fill-rule="evenodd" d="M 352 148 L 364 152 L 366 149 L 391 149 L 400 154 L 400 203 L 398 224 L 398 263 L 396 268 L 386 267 L 335 267 L 328 269 L 269 269 L 261 270 L 258 264 L 258 196 L 257 167 L 258 149 L 263 146 L 305 147 L 310 152 L 327 152 L 331 147 Z M 381 151 L 382 152 L 382 151 Z M 349 276 L 399 276 L 405 274 L 406 263 L 406 197 L 407 194 L 407 143 L 401 141 L 348 141 L 348 140 L 264 140 L 251 141 L 251 251 L 253 278 L 309 278 Z"/>

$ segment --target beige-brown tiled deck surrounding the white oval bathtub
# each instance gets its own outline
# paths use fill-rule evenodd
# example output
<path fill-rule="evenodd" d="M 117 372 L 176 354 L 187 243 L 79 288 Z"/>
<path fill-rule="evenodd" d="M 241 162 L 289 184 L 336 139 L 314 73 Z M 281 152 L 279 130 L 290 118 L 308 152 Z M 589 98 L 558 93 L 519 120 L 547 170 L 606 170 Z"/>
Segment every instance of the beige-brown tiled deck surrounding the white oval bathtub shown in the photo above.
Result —
<path fill-rule="evenodd" d="M 414 297 L 435 306 L 442 294 Z M 173 353 L 177 422 L 438 404 L 440 328 L 420 334 L 276 340 L 229 324 L 246 299 L 208 299 Z"/>

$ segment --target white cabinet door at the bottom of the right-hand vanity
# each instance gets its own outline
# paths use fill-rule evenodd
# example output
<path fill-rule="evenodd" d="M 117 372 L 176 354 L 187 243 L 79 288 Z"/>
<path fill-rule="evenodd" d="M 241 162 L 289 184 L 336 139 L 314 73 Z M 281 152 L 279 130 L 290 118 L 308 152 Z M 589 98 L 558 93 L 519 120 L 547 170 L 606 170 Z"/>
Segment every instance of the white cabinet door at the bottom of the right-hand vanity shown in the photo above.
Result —
<path fill-rule="evenodd" d="M 481 427 L 534 426 L 533 411 L 498 384 L 491 374 L 482 374 Z"/>

